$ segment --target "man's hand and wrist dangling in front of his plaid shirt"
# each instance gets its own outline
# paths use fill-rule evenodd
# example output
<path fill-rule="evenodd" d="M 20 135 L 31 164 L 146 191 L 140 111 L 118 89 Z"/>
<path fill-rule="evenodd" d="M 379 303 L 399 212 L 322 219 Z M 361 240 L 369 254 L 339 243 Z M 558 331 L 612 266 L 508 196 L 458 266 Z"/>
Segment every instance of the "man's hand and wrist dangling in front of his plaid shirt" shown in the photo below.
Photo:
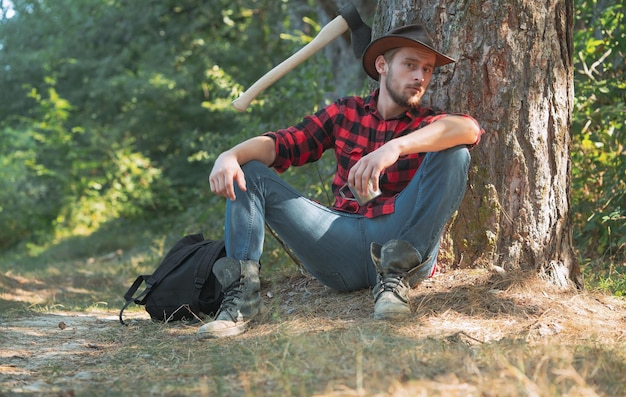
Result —
<path fill-rule="evenodd" d="M 348 183 L 359 195 L 366 196 L 368 186 L 379 190 L 378 182 L 383 171 L 392 166 L 400 157 L 400 151 L 392 141 L 369 153 L 354 164 L 348 173 Z"/>

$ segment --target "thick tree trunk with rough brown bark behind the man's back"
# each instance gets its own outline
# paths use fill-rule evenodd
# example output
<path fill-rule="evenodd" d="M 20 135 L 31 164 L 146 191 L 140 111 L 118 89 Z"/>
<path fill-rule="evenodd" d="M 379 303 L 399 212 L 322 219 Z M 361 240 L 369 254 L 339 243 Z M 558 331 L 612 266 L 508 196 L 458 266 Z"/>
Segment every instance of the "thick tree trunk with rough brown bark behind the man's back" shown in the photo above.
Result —
<path fill-rule="evenodd" d="M 573 0 L 381 0 L 372 36 L 405 23 L 426 25 L 457 59 L 425 102 L 485 129 L 440 265 L 532 269 L 581 287 L 569 190 Z"/>

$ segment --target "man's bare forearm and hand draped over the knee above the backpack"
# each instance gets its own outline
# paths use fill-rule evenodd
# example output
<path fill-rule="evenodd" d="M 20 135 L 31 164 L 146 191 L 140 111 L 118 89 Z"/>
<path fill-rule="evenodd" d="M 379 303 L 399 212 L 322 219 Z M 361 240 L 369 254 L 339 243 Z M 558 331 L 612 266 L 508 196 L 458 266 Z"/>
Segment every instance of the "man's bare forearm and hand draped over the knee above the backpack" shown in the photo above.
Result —
<path fill-rule="evenodd" d="M 246 190 L 246 180 L 241 166 L 257 160 L 269 167 L 275 159 L 276 150 L 272 138 L 257 136 L 242 142 L 220 154 L 215 160 L 209 175 L 211 191 L 218 196 L 235 200 L 235 181 L 241 190 Z"/>

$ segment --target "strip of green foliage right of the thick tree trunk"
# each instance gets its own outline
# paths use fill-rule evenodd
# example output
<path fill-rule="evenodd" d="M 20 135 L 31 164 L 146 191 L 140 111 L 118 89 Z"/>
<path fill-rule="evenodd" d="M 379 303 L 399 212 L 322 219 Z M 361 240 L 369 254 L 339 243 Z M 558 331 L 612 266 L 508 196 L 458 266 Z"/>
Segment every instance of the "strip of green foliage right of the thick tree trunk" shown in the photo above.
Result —
<path fill-rule="evenodd" d="M 624 294 L 624 268 L 614 263 L 626 257 L 625 7 L 579 0 L 576 10 L 574 237 L 591 272 L 606 271 L 604 286 Z"/>

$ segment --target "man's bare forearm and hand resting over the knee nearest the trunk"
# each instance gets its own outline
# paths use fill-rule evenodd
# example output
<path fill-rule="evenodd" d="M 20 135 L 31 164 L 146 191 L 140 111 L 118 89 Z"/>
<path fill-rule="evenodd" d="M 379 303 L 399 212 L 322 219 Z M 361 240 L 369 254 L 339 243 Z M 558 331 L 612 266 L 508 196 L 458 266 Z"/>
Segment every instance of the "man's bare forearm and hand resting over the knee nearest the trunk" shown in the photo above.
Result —
<path fill-rule="evenodd" d="M 400 156 L 438 152 L 458 145 L 476 143 L 480 127 L 470 118 L 446 116 L 405 136 L 392 139 L 372 153 L 363 156 L 348 174 L 348 182 L 359 194 L 367 193 L 368 183 L 378 189 L 378 178 Z"/>

